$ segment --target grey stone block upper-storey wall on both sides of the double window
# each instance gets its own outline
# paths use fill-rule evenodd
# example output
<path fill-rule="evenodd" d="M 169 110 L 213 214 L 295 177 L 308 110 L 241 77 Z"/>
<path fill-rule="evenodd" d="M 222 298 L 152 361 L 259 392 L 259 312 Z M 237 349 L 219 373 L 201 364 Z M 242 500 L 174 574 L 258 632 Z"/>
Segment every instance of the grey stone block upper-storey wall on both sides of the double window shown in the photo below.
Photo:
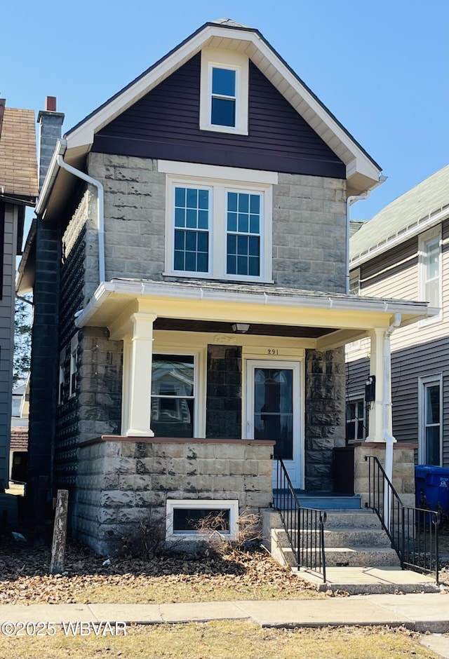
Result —
<path fill-rule="evenodd" d="M 88 171 L 105 187 L 106 278 L 162 280 L 166 175 L 157 161 L 93 153 Z M 344 292 L 345 194 L 342 179 L 279 174 L 273 186 L 275 285 Z"/>

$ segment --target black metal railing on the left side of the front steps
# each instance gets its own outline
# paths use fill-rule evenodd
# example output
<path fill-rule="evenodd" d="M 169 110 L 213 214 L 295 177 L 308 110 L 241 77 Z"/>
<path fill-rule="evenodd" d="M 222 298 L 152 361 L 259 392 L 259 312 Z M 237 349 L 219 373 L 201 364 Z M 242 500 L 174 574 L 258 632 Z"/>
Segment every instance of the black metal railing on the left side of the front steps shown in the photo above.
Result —
<path fill-rule="evenodd" d="M 277 460 L 274 506 L 281 513 L 298 567 L 318 572 L 326 583 L 324 553 L 326 512 L 314 508 L 302 508 L 281 458 Z"/>

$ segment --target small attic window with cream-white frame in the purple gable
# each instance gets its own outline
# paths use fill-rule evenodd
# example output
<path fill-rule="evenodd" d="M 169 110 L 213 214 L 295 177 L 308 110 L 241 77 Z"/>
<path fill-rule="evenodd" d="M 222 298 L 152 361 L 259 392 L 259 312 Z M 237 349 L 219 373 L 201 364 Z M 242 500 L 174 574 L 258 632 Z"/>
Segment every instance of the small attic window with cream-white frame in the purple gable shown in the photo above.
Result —
<path fill-rule="evenodd" d="M 201 51 L 201 130 L 248 135 L 248 57 Z"/>

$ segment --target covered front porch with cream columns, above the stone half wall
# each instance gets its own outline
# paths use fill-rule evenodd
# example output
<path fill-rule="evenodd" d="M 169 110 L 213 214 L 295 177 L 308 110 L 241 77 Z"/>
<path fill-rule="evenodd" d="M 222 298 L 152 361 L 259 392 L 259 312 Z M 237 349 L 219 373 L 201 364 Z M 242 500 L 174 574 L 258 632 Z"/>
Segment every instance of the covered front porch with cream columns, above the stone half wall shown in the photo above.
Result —
<path fill-rule="evenodd" d="M 367 441 L 382 442 L 389 335 L 431 312 L 267 285 L 112 280 L 76 324 L 123 341 L 120 435 L 276 440 L 295 487 L 323 489 L 330 453 L 344 446 L 344 344 L 370 337 Z"/>

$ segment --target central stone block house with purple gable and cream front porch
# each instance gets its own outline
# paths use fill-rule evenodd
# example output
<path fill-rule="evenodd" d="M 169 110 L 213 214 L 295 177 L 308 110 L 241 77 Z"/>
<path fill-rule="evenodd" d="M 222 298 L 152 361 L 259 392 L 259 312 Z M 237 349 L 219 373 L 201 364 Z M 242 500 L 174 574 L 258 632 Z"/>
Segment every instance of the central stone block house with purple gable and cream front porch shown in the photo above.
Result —
<path fill-rule="evenodd" d="M 232 534 L 272 505 L 273 456 L 295 488 L 332 491 L 344 345 L 371 337 L 381 402 L 388 328 L 429 313 L 347 294 L 347 208 L 379 165 L 227 19 L 53 141 L 19 281 L 36 305 L 33 519 L 65 488 L 98 552 L 149 511 L 168 538 L 207 510 Z"/>

